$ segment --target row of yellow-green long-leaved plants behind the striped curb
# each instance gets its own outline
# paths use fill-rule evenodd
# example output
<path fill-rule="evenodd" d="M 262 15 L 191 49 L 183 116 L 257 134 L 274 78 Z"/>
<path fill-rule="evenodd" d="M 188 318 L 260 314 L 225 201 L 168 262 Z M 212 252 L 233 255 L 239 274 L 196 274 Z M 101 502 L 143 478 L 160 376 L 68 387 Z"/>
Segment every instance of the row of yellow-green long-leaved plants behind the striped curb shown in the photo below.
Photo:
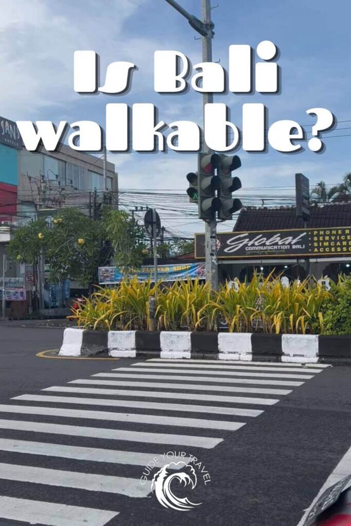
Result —
<path fill-rule="evenodd" d="M 296 280 L 284 286 L 273 272 L 250 282 L 235 280 L 218 291 L 198 279 L 165 286 L 125 279 L 115 288 L 99 288 L 85 303 L 72 309 L 78 327 L 95 330 L 146 330 L 148 300 L 156 299 L 159 330 L 212 331 L 224 321 L 230 332 L 319 333 L 324 330 L 323 308 L 337 292 L 351 289 L 349 278 L 330 281 L 330 291 L 317 281 Z"/>

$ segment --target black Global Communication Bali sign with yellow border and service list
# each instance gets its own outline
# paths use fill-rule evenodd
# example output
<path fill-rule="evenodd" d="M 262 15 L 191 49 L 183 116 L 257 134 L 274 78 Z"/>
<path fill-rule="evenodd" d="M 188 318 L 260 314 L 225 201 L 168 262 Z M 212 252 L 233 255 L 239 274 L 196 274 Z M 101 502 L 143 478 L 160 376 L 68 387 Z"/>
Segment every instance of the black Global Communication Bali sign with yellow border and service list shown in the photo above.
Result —
<path fill-rule="evenodd" d="M 351 227 L 222 232 L 217 251 L 222 259 L 343 256 L 351 254 Z M 204 234 L 195 234 L 195 258 L 205 258 Z"/>

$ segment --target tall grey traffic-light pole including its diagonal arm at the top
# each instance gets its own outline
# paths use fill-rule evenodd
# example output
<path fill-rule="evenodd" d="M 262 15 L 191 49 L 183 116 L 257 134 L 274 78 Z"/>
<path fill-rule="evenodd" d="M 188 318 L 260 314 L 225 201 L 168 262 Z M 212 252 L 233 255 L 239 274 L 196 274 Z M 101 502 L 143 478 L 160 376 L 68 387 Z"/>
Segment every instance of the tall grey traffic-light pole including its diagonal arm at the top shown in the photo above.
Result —
<path fill-rule="evenodd" d="M 181 15 L 183 15 L 195 31 L 202 35 L 202 61 L 212 62 L 212 38 L 214 24 L 211 20 L 211 4 L 210 0 L 202 0 L 202 20 L 200 21 L 194 15 L 188 13 L 175 0 L 166 0 L 168 4 L 174 7 Z M 213 103 L 213 94 L 203 94 L 203 113 L 205 123 L 205 105 Z M 204 153 L 213 153 L 213 150 L 208 148 L 204 139 Z M 209 283 L 213 290 L 218 289 L 218 260 L 217 260 L 217 224 L 216 219 L 210 219 L 205 222 L 205 271 L 206 283 Z"/>

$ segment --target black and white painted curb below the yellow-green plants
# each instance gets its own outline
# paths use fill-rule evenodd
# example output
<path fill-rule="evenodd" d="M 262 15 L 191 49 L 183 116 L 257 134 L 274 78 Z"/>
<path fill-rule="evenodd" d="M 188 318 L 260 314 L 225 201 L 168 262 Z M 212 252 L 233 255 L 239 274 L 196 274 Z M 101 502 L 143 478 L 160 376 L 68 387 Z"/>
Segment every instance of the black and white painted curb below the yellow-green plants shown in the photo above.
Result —
<path fill-rule="evenodd" d="M 102 353 L 114 358 L 342 363 L 351 360 L 351 336 L 65 329 L 59 356 Z"/>

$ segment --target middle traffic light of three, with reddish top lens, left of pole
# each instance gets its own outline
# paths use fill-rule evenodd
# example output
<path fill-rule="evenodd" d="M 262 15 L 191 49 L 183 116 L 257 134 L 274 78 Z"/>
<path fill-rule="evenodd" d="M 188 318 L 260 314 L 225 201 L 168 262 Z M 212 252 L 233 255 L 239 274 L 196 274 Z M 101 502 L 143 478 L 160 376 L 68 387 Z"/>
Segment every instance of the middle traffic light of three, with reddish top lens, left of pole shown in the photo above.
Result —
<path fill-rule="evenodd" d="M 215 175 L 215 169 L 220 165 L 218 154 L 198 154 L 198 217 L 199 219 L 215 219 L 216 211 L 220 209 L 220 199 L 216 197 L 220 179 Z"/>

